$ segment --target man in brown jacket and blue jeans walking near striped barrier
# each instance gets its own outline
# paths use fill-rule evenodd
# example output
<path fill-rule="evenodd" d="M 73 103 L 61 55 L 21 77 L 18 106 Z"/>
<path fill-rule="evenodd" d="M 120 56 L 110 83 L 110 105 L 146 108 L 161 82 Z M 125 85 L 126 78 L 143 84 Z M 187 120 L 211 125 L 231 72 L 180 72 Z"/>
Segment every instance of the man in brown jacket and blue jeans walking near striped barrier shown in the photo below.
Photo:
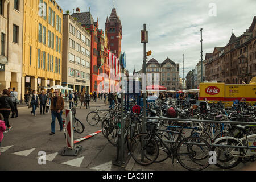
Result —
<path fill-rule="evenodd" d="M 51 103 L 51 113 L 52 113 L 52 122 L 50 135 L 55 134 L 55 120 L 56 117 L 60 124 L 60 131 L 63 131 L 63 122 L 62 122 L 62 110 L 64 109 L 64 100 L 59 96 L 59 90 L 54 91 L 54 96 L 52 97 Z"/>

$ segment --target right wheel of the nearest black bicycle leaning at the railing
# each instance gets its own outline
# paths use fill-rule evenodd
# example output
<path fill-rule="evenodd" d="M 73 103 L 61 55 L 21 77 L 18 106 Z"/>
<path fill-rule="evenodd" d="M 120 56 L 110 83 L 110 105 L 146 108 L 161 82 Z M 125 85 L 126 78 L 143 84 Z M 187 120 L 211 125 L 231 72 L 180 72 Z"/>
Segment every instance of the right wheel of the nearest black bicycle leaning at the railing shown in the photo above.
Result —
<path fill-rule="evenodd" d="M 209 166 L 209 143 L 200 137 L 187 137 L 177 146 L 177 160 L 184 168 L 200 171 Z"/>

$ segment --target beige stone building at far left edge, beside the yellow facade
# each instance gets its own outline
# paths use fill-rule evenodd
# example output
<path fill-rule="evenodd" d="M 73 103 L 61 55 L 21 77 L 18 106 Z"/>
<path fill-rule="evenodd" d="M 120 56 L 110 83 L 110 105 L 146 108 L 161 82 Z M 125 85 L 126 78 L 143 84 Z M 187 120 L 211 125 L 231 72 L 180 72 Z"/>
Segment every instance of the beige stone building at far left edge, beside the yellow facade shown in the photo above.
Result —
<path fill-rule="evenodd" d="M 22 100 L 23 0 L 0 0 L 0 90 L 16 88 Z"/>

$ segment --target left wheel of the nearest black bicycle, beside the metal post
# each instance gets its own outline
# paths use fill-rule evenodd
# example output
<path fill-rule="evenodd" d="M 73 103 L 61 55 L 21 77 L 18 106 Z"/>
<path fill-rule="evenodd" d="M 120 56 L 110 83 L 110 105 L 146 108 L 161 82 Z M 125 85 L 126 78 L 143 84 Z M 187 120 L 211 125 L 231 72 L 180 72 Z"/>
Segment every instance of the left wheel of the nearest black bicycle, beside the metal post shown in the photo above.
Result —
<path fill-rule="evenodd" d="M 143 146 L 142 139 L 144 141 Z M 143 166 L 154 163 L 159 154 L 158 142 L 153 137 L 150 139 L 150 135 L 147 133 L 136 135 L 131 140 L 130 149 L 133 159 Z M 144 151 L 144 159 L 142 159 L 142 151 Z"/>

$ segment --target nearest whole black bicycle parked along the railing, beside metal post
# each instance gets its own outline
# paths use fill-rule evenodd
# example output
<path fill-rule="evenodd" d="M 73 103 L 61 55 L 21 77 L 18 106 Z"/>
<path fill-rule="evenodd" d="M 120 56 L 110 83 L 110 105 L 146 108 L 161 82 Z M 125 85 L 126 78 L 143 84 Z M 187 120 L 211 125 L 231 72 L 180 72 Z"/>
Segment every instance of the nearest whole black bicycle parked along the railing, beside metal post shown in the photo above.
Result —
<path fill-rule="evenodd" d="M 131 156 L 141 165 L 149 165 L 155 162 L 159 155 L 159 143 L 166 150 L 168 157 L 177 158 L 178 162 L 188 170 L 203 170 L 209 166 L 209 143 L 200 137 L 184 137 L 181 132 L 158 129 L 159 122 L 147 121 L 150 133 L 136 135 L 131 141 Z M 165 131 L 179 134 L 177 140 L 163 140 L 157 131 Z M 170 143 L 170 144 L 169 144 Z M 198 147 L 199 146 L 199 147 Z M 187 159 L 183 159 L 183 157 Z M 185 162 L 192 162 L 191 166 Z M 197 168 L 196 168 L 197 167 Z"/>

